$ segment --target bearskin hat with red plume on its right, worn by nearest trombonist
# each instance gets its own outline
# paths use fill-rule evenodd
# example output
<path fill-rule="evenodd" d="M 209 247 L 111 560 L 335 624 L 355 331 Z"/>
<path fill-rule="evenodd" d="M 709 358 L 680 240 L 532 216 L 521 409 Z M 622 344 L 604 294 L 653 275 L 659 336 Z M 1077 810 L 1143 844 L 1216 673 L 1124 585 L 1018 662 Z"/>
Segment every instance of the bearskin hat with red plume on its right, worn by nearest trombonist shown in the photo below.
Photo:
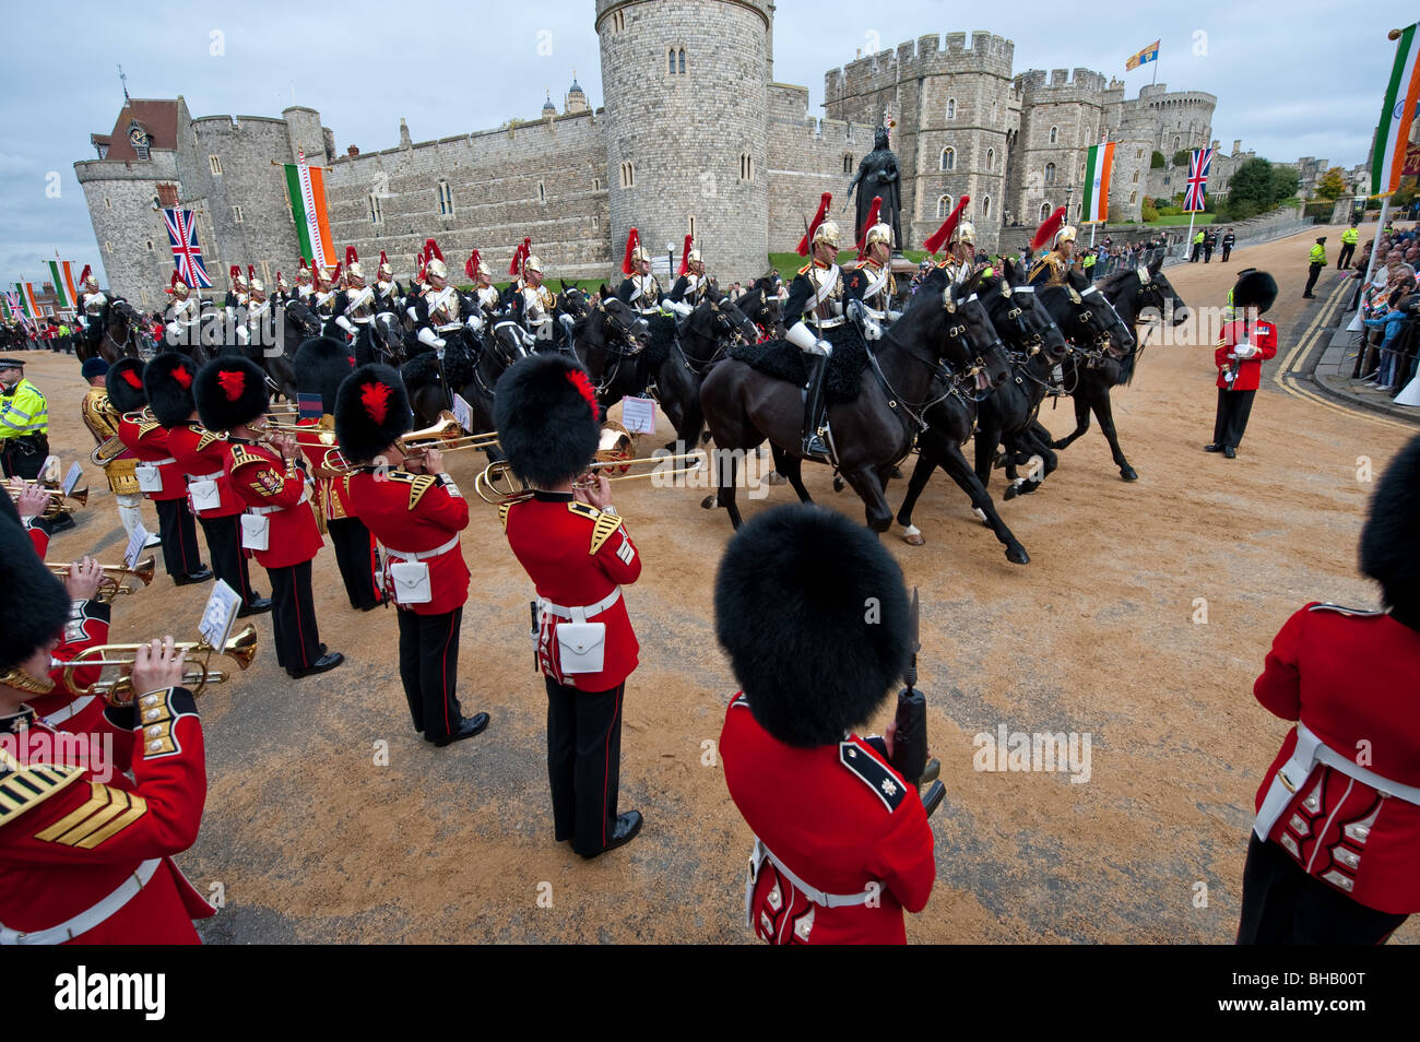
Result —
<path fill-rule="evenodd" d="M 493 423 L 513 471 L 538 488 L 581 474 L 596 454 L 601 424 L 586 371 L 565 355 L 515 362 L 494 389 Z"/>

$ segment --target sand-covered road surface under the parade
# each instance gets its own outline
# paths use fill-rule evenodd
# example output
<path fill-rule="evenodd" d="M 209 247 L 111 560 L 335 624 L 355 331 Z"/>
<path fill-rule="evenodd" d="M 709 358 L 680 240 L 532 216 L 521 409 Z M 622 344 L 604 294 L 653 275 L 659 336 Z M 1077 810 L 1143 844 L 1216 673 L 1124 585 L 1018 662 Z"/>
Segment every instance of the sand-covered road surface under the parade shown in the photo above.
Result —
<path fill-rule="evenodd" d="M 1333 294 L 1328 275 L 1321 301 L 1301 300 L 1308 244 L 1299 236 L 1245 248 L 1228 265 L 1181 265 L 1170 277 L 1200 307 L 1221 304 L 1240 267 L 1271 270 L 1282 287 L 1272 312 L 1281 361 Z M 65 466 L 88 466 L 75 363 L 30 361 L 50 397 L 55 450 Z M 1252 680 L 1277 629 L 1306 600 L 1375 603 L 1355 565 L 1372 487 L 1358 480 L 1358 459 L 1379 473 L 1407 430 L 1271 385 L 1238 459 L 1206 456 L 1213 375 L 1210 344 L 1149 349 L 1135 385 L 1115 397 L 1140 480 L 1119 480 L 1098 430 L 1081 439 L 1039 493 L 1004 504 L 1028 566 L 1005 561 L 940 476 L 916 517 L 927 545 L 906 547 L 896 530 L 888 538 L 922 591 L 922 687 L 949 791 L 933 819 L 937 884 L 926 911 L 909 917 L 913 941 L 1233 940 L 1252 794 L 1287 730 L 1255 703 Z M 1068 403 L 1042 413 L 1056 436 L 1071 416 Z M 450 459 L 471 490 L 481 457 Z M 825 468 L 807 470 L 815 498 L 862 517 Z M 94 468 L 89 483 L 89 505 L 51 559 L 95 549 L 119 558 L 122 530 Z M 895 507 L 902 493 L 889 491 Z M 447 750 L 413 734 L 395 619 L 352 612 L 324 551 L 321 637 L 346 664 L 290 681 L 263 616 L 251 670 L 202 698 L 210 789 L 202 835 L 179 862 L 226 903 L 204 937 L 747 940 L 750 832 L 714 757 L 736 690 L 710 608 L 730 527 L 723 511 L 700 508 L 701 495 L 618 488 L 645 559 L 626 591 L 642 666 L 628 686 L 621 777 L 622 808 L 646 816 L 640 838 L 595 862 L 552 842 L 530 583 L 496 511 L 476 503 L 463 538 L 474 582 L 460 666 L 464 710 L 491 713 L 490 728 Z M 747 512 L 790 498 L 774 488 Z M 190 636 L 204 598 L 206 588 L 159 578 L 116 608 L 115 639 Z M 1200 598 L 1206 623 L 1196 622 Z M 974 735 L 1001 725 L 1088 734 L 1088 781 L 976 771 Z M 1420 940 L 1420 927 L 1397 940 Z"/>

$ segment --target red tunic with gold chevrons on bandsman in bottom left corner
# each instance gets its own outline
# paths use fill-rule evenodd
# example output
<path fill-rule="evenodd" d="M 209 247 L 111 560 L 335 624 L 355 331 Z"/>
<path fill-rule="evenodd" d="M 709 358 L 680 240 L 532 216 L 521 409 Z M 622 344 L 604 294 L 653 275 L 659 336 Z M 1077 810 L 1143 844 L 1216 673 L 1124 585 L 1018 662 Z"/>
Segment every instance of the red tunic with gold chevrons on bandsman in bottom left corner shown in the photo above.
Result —
<path fill-rule="evenodd" d="M 67 923 L 152 872 L 77 944 L 196 944 L 193 918 L 214 910 L 173 865 L 197 838 L 207 796 L 202 724 L 185 689 L 141 698 L 133 781 L 74 762 L 72 745 L 41 723 L 0 754 L 0 923 L 33 933 Z M 6 721 L 11 723 L 11 721 Z M 45 767 L 47 764 L 53 767 Z M 155 862 L 149 865 L 149 862 Z"/>

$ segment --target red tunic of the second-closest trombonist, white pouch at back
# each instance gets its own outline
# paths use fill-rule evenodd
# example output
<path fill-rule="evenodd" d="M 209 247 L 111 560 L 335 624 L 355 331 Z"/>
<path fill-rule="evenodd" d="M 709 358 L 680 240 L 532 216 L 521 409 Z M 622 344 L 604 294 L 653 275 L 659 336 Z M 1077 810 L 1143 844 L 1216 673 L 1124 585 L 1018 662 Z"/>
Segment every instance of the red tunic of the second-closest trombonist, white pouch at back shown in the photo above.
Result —
<path fill-rule="evenodd" d="M 463 606 L 469 599 L 469 565 L 457 539 L 459 532 L 469 527 L 469 504 L 457 494 L 457 487 L 433 474 L 381 471 L 376 467 L 362 467 L 337 484 L 342 501 L 349 504 L 349 515 L 364 521 L 385 547 L 386 579 L 389 565 L 409 561 L 408 554 L 453 542 L 442 554 L 423 558 L 423 564 L 429 565 L 433 599 L 402 608 L 415 615 L 443 615 Z M 390 589 L 388 581 L 385 586 Z M 395 603 L 399 603 L 398 591 Z"/>

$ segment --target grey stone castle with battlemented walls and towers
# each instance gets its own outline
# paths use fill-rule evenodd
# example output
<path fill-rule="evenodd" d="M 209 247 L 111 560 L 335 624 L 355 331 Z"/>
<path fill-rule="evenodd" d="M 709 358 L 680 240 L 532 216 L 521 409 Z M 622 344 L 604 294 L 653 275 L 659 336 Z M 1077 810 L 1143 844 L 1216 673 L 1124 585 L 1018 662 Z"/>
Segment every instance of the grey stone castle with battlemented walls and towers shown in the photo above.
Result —
<path fill-rule="evenodd" d="M 293 281 L 281 163 L 300 152 L 325 168 L 338 256 L 355 246 L 368 271 L 385 250 L 408 278 L 432 236 L 454 271 L 477 248 L 506 278 L 530 237 L 550 278 L 619 278 L 636 227 L 650 253 L 677 258 L 694 234 L 713 274 L 746 280 L 794 248 L 822 192 L 849 244 L 848 183 L 883 121 L 909 248 L 963 193 L 987 250 L 1018 248 L 1056 206 L 1078 221 L 1085 149 L 1102 135 L 1115 142 L 1110 216 L 1137 220 L 1145 197 L 1183 190 L 1174 153 L 1211 142 L 1213 95 L 1160 84 L 1127 99 L 1123 82 L 1083 68 L 1017 74 L 1014 44 L 990 33 L 923 35 L 829 70 L 816 119 L 807 88 L 774 81 L 772 0 L 595 0 L 595 28 L 604 108 L 574 78 L 561 111 L 550 98 L 537 119 L 423 142 L 400 119 L 399 143 L 376 152 L 337 155 L 310 108 L 195 119 L 182 97 L 126 101 L 114 129 L 92 135 L 98 158 L 74 165 L 109 287 L 163 305 L 172 251 L 159 207 L 175 204 L 196 210 L 216 290 L 231 264 Z M 1240 142 L 1218 153 L 1210 193 L 1250 155 Z"/>

